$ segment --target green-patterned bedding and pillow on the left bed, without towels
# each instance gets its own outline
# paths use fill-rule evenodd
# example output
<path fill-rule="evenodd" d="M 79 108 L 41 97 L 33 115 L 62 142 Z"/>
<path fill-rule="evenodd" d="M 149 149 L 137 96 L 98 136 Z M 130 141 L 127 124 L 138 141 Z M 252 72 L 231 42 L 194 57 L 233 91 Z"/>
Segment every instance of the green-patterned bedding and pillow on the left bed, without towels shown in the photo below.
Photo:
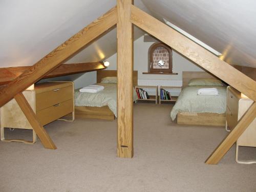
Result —
<path fill-rule="evenodd" d="M 97 83 L 104 86 L 104 90 L 98 93 L 80 93 L 79 89 L 75 90 L 75 106 L 105 106 L 108 105 L 110 110 L 117 117 L 117 84 L 116 83 Z M 136 91 L 133 92 L 133 100 L 137 99 Z"/>

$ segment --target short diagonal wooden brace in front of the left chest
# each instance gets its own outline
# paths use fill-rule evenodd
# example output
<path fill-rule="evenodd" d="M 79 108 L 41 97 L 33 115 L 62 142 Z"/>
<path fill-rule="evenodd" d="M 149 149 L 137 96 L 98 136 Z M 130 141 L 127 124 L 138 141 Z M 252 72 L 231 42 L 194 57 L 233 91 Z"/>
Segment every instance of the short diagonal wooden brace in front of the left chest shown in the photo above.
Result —
<path fill-rule="evenodd" d="M 57 147 L 53 143 L 44 127 L 36 119 L 36 115 L 24 95 L 22 93 L 18 93 L 14 96 L 14 99 L 17 101 L 20 109 L 22 109 L 23 113 L 27 117 L 29 123 L 33 127 L 33 130 L 41 140 L 42 145 L 44 145 L 45 148 L 55 150 Z"/>

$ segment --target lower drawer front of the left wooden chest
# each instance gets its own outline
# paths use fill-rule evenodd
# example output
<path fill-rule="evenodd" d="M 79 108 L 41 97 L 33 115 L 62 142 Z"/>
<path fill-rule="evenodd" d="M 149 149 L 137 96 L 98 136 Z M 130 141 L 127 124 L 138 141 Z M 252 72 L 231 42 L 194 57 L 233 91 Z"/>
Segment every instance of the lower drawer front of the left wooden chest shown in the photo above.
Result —
<path fill-rule="evenodd" d="M 41 125 L 45 125 L 71 112 L 73 112 L 73 99 L 69 99 L 62 103 L 50 106 L 49 108 L 37 111 L 36 117 Z"/>

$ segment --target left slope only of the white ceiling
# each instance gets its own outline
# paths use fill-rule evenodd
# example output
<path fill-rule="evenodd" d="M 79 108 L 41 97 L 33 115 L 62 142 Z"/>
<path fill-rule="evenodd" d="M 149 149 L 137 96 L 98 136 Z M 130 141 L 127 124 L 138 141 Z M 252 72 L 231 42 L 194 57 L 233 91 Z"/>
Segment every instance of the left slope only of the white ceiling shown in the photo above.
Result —
<path fill-rule="evenodd" d="M 1 0 L 0 67 L 31 66 L 116 5 L 116 0 Z M 136 5 L 145 8 L 141 1 Z M 143 35 L 135 30 L 135 38 Z M 67 62 L 100 61 L 116 53 L 116 29 Z"/>

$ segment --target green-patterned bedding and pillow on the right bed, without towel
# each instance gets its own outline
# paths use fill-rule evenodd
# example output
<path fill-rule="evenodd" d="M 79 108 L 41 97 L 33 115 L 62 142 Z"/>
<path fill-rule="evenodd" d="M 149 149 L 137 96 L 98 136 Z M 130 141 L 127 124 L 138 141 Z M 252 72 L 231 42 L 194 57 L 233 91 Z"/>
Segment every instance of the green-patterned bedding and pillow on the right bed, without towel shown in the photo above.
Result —
<path fill-rule="evenodd" d="M 201 88 L 217 88 L 219 95 L 198 95 Z M 179 112 L 223 114 L 226 112 L 226 89 L 225 86 L 188 86 L 181 91 L 170 117 L 175 120 Z"/>

